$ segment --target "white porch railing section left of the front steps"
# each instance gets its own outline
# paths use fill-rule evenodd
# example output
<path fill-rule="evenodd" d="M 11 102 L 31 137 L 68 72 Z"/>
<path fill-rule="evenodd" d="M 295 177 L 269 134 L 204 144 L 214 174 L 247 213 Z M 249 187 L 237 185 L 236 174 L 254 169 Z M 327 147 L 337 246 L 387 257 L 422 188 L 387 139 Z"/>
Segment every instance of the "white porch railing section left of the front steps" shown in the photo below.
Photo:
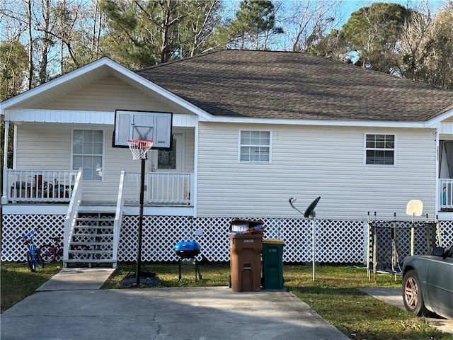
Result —
<path fill-rule="evenodd" d="M 6 190 L 10 202 L 67 203 L 74 190 L 77 171 L 8 169 L 6 176 Z"/>

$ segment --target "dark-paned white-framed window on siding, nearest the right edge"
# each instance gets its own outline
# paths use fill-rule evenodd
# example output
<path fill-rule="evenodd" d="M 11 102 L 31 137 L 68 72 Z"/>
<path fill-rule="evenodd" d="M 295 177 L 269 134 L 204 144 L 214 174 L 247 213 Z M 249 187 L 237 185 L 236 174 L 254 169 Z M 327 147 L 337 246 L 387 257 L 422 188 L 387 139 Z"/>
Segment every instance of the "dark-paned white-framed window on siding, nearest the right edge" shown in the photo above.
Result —
<path fill-rule="evenodd" d="M 365 164 L 395 164 L 395 135 L 365 137 Z"/>

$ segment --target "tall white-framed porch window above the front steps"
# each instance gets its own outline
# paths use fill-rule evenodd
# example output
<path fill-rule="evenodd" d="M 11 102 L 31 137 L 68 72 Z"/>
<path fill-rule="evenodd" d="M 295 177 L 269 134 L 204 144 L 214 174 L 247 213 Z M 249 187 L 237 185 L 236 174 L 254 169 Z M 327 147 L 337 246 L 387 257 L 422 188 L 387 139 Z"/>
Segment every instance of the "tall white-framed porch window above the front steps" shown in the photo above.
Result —
<path fill-rule="evenodd" d="M 103 131 L 74 130 L 72 169 L 82 169 L 84 181 L 101 181 L 103 166 Z"/>

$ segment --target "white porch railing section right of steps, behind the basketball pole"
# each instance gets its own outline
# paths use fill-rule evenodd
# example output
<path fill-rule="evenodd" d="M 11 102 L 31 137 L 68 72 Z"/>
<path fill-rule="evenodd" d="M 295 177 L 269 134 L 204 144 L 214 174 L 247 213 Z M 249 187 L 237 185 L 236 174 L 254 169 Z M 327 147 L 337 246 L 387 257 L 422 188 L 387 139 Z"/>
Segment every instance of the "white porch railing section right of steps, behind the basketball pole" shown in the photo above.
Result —
<path fill-rule="evenodd" d="M 139 203 L 140 174 L 125 174 L 125 203 Z M 190 192 L 193 191 L 191 173 L 156 173 L 145 174 L 144 203 L 192 205 Z"/>

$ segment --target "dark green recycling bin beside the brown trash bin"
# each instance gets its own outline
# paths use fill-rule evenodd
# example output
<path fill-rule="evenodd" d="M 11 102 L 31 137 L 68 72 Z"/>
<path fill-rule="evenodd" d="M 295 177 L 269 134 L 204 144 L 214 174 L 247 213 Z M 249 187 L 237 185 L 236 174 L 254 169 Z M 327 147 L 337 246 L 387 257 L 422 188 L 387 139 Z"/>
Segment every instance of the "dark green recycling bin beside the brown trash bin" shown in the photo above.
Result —
<path fill-rule="evenodd" d="M 263 288 L 283 289 L 282 239 L 263 239 Z"/>

